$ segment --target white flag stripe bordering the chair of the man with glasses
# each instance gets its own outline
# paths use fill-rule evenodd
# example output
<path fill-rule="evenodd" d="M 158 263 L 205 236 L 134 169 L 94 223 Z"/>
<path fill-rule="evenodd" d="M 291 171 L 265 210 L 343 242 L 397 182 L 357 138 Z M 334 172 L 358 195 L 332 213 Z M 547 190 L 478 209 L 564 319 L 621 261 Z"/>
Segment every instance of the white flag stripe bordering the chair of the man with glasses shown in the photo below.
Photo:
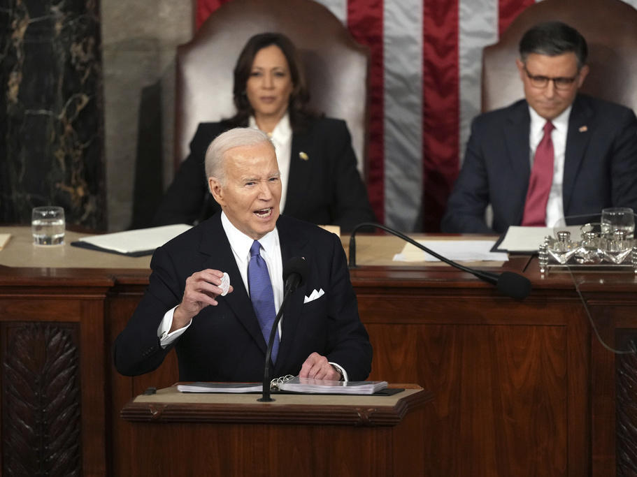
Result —
<path fill-rule="evenodd" d="M 471 121 L 480 113 L 482 48 L 498 41 L 498 2 L 460 0 L 458 70 L 460 83 L 460 163 L 471 132 Z M 515 68 L 512 64 L 511 68 Z"/>

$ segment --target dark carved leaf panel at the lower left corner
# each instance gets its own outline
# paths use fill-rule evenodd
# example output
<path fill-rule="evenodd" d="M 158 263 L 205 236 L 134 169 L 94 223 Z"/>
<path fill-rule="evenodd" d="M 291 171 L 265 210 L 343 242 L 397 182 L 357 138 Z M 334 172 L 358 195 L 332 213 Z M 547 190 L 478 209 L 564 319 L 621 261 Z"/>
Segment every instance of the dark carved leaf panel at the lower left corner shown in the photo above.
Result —
<path fill-rule="evenodd" d="M 0 330 L 2 475 L 82 475 L 78 325 Z"/>

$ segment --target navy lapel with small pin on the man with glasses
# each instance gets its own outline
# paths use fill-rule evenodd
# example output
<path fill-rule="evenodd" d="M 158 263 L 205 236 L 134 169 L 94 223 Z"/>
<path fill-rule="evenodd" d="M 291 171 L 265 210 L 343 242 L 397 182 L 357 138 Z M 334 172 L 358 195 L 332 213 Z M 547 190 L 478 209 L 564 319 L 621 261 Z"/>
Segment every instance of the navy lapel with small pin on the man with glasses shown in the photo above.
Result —
<path fill-rule="evenodd" d="M 577 96 L 573 101 L 573 109 L 568 117 L 568 133 L 566 133 L 566 153 L 564 156 L 564 178 L 562 179 L 562 200 L 564 215 L 573 197 L 575 178 L 578 175 L 584 153 L 594 128 L 594 116 L 589 105 Z"/>

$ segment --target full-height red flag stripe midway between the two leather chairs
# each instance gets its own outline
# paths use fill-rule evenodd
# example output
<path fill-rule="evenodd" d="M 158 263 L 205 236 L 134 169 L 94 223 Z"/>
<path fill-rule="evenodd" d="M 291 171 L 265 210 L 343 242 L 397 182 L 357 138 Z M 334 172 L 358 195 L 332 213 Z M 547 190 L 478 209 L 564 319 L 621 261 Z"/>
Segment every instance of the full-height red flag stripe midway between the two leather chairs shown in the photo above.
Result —
<path fill-rule="evenodd" d="M 424 1 L 422 15 L 422 174 L 420 215 L 438 232 L 459 170 L 458 1 Z"/>

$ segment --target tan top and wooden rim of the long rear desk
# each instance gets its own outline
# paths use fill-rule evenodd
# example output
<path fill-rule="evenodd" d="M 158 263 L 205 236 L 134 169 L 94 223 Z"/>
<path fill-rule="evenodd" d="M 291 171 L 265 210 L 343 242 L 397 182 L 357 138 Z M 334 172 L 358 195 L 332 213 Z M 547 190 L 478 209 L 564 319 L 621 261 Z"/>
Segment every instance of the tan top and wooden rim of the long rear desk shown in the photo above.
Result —
<path fill-rule="evenodd" d="M 62 246 L 37 247 L 31 242 L 30 227 L 0 227 L 0 233 L 10 233 L 11 238 L 0 250 L 0 281 L 21 279 L 68 279 L 87 280 L 108 278 L 119 283 L 145 284 L 150 274 L 150 256 L 129 257 L 72 247 L 70 242 L 86 234 L 66 231 L 66 243 Z M 441 240 L 485 240 L 484 235 L 422 235 L 413 234 L 416 239 Z M 494 237 L 490 237 L 494 238 Z M 460 272 L 450 265 L 436 262 L 394 262 L 392 257 L 404 246 L 403 240 L 392 235 L 357 235 L 357 265 L 350 270 L 352 283 L 356 286 L 424 286 L 437 288 L 490 287 L 466 272 Z M 345 254 L 348 254 L 349 236 L 341 237 Z M 463 263 L 468 267 L 494 272 L 510 271 L 524 274 L 531 279 L 534 288 L 574 288 L 577 283 L 582 289 L 601 290 L 614 288 L 615 291 L 634 291 L 637 275 L 631 271 L 568 271 L 539 272 L 537 257 L 510 256 L 504 263 L 475 262 Z M 420 284 L 420 285 L 417 285 Z"/>

